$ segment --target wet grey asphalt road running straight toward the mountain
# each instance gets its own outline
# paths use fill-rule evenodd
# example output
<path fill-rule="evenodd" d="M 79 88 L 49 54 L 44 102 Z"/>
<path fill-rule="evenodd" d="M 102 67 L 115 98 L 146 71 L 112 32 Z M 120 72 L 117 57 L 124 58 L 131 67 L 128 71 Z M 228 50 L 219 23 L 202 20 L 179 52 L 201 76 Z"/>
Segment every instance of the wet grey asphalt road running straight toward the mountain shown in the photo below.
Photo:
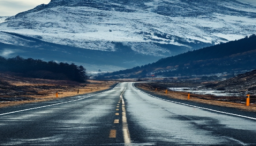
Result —
<path fill-rule="evenodd" d="M 1 108 L 0 145 L 256 145 L 254 113 L 182 102 L 123 82 L 103 93 Z"/>

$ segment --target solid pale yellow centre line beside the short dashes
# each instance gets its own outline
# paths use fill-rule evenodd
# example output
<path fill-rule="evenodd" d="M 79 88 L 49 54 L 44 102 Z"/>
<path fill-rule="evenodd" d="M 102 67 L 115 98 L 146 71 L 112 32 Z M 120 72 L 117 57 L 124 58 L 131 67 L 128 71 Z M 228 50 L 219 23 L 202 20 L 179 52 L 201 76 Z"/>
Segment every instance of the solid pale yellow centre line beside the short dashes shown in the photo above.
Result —
<path fill-rule="evenodd" d="M 124 89 L 124 91 L 125 91 L 125 89 Z M 124 93 L 124 91 L 123 91 L 123 93 Z M 123 93 L 120 95 L 120 98 L 122 100 L 122 104 L 124 105 Z M 122 111 L 122 115 L 123 115 L 122 122 L 123 122 L 124 144 L 125 144 L 125 146 L 130 146 L 131 138 L 130 138 L 130 133 L 129 133 L 128 124 L 127 124 L 126 111 L 125 111 L 125 108 L 122 108 L 122 110 L 123 110 Z"/>

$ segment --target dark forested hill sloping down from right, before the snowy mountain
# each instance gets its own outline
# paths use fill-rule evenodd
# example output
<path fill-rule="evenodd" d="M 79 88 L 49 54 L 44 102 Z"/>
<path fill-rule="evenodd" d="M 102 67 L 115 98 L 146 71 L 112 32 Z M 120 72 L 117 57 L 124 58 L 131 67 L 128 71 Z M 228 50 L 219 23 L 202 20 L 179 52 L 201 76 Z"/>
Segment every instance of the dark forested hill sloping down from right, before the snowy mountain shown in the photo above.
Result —
<path fill-rule="evenodd" d="M 214 73 L 235 73 L 256 68 L 256 36 L 237 41 L 221 43 L 180 55 L 159 59 L 152 64 L 120 70 L 104 76 L 146 77 L 155 76 L 192 76 Z M 99 76 L 102 78 L 102 76 Z"/>

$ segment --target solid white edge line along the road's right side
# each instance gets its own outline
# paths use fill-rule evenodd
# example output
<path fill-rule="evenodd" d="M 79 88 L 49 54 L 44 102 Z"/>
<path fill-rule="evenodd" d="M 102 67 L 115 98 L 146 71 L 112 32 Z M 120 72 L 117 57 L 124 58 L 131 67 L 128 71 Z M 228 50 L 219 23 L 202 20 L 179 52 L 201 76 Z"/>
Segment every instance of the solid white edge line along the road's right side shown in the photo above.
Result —
<path fill-rule="evenodd" d="M 136 88 L 136 87 L 134 86 L 134 82 L 132 83 L 132 85 L 133 85 L 134 88 Z M 140 92 L 143 92 L 143 91 L 141 91 L 141 90 L 138 89 L 138 88 L 136 88 L 136 89 L 139 90 Z M 145 92 L 143 92 L 143 93 L 145 93 Z M 150 95 L 150 94 L 148 94 L 148 93 L 145 93 L 145 94 L 147 94 L 147 95 L 149 95 L 149 96 L 152 96 L 152 97 L 155 97 L 155 96 Z M 159 98 L 159 97 L 155 97 L 155 98 L 161 99 L 161 98 Z M 179 102 L 176 102 L 176 101 L 171 101 L 171 100 L 166 100 L 166 99 L 161 99 L 161 100 L 165 100 L 165 101 L 169 101 L 169 102 L 173 102 L 173 103 L 178 103 L 178 104 L 183 104 L 183 105 L 188 105 L 188 106 L 196 107 L 196 108 L 202 108 L 202 109 L 204 109 L 204 110 L 209 110 L 209 111 L 214 111 L 214 112 L 220 112 L 220 113 L 223 113 L 223 114 L 229 114 L 229 115 L 240 116 L 240 117 L 243 117 L 243 118 L 248 118 L 248 119 L 256 120 L 256 118 L 252 118 L 252 117 L 249 117 L 249 116 L 242 116 L 242 115 L 237 115 L 237 114 L 231 114 L 231 113 L 228 113 L 228 112 L 216 111 L 216 110 L 212 110 L 212 109 L 209 109 L 209 108 L 197 107 L 197 106 L 195 106 L 195 105 L 190 105 L 190 104 L 185 104 L 185 103 L 179 103 Z"/>

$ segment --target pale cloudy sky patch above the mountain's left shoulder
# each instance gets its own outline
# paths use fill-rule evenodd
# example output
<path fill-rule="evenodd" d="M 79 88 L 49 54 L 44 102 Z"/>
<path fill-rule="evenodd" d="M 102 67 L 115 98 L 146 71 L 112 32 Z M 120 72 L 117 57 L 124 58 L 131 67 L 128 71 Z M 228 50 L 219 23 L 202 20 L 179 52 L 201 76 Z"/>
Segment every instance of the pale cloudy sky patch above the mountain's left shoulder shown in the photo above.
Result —
<path fill-rule="evenodd" d="M 0 0 L 0 16 L 12 16 L 19 12 L 33 9 L 40 4 L 48 4 L 50 0 Z"/>

